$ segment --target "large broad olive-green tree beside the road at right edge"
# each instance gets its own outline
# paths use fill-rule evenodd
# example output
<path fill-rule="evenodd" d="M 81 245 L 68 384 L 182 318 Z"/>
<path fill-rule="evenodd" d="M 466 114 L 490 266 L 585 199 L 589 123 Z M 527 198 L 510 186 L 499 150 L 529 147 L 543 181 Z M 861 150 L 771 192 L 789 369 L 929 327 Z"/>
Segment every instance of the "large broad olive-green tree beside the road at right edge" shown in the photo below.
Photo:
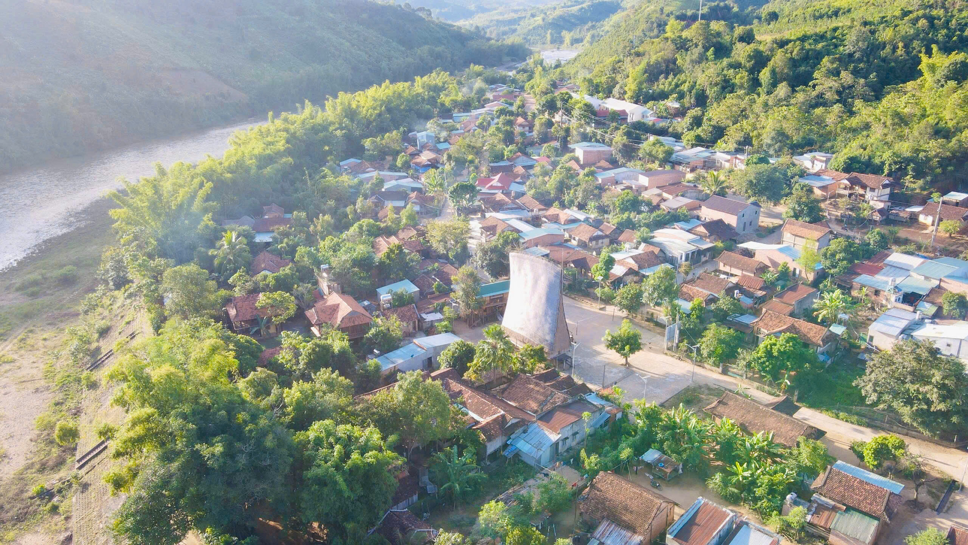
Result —
<path fill-rule="evenodd" d="M 939 354 L 930 340 L 901 340 L 876 352 L 854 385 L 867 403 L 892 409 L 923 433 L 959 430 L 968 414 L 964 364 Z"/>

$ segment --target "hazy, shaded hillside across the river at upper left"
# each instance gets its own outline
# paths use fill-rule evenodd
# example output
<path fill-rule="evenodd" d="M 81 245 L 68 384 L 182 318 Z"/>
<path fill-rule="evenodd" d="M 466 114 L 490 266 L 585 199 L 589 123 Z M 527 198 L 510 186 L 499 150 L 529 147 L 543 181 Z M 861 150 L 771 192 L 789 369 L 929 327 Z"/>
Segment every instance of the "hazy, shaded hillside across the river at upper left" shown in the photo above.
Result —
<path fill-rule="evenodd" d="M 510 51 L 366 0 L 0 3 L 0 171 Z"/>

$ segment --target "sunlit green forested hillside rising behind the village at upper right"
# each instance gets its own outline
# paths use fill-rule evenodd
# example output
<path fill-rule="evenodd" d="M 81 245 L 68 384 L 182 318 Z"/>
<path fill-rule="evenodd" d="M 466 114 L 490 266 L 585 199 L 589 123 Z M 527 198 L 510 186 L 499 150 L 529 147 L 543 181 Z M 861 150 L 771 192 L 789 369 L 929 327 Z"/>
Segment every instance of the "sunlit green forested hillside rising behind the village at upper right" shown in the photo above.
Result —
<path fill-rule="evenodd" d="M 968 13 L 943 0 L 774 0 L 696 14 L 646 2 L 568 67 L 583 89 L 643 104 L 674 98 L 687 142 L 954 186 L 968 158 Z M 691 15 L 691 16 L 690 16 Z"/>

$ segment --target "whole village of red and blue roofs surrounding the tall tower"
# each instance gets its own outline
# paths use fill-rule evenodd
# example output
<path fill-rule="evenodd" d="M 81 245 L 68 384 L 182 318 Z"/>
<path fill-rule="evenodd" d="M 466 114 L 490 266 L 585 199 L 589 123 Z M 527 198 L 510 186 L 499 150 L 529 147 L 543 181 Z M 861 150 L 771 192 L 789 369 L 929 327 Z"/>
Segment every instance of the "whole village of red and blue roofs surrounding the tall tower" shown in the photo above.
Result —
<path fill-rule="evenodd" d="M 220 316 L 257 340 L 257 367 L 288 372 L 317 341 L 351 350 L 365 377 L 351 410 L 398 418 L 396 487 L 368 534 L 871 545 L 947 524 L 968 543 L 945 522 L 963 468 L 944 452 L 964 438 L 924 409 L 847 409 L 925 343 L 968 361 L 968 194 L 913 194 L 833 170 L 823 151 L 621 142 L 616 127 L 661 126 L 678 105 L 663 118 L 576 91 L 560 84 L 549 107 L 494 84 L 400 149 L 333 165 L 369 188 L 343 236 L 371 244 L 369 261 L 307 257 L 293 240 L 318 226 L 300 209 L 219 220 L 216 260 L 235 237 L 257 244 Z M 566 144 L 576 123 L 590 138 Z M 496 129 L 506 152 L 451 157 Z M 789 197 L 741 196 L 775 165 L 795 176 L 764 183 Z M 421 384 L 442 390 L 443 412 L 430 398 L 393 412 Z"/>

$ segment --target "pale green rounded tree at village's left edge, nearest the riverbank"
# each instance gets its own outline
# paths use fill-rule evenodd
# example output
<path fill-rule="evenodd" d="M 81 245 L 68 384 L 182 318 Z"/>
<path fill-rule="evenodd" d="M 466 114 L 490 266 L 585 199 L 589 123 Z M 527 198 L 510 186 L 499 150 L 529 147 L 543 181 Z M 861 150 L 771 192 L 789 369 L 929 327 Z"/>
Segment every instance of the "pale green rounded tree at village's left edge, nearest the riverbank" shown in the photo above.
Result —
<path fill-rule="evenodd" d="M 212 316 L 219 312 L 223 296 L 208 272 L 194 263 L 168 269 L 162 279 L 161 293 L 166 298 L 169 317 Z"/>

